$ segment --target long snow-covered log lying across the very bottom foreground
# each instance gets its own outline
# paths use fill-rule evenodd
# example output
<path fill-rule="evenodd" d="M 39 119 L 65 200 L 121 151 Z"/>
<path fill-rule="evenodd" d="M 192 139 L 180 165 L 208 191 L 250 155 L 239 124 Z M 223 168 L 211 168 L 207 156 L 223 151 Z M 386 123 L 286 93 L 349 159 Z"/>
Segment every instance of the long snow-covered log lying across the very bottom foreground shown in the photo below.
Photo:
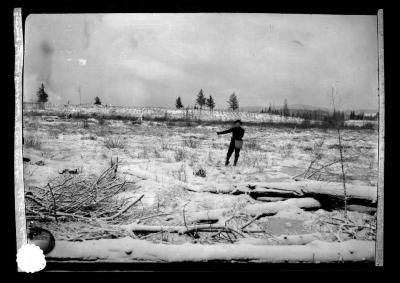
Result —
<path fill-rule="evenodd" d="M 90 260 L 104 262 L 248 261 L 270 263 L 373 262 L 375 242 L 349 240 L 307 245 L 154 244 L 130 237 L 82 242 L 58 241 L 47 261 Z"/>

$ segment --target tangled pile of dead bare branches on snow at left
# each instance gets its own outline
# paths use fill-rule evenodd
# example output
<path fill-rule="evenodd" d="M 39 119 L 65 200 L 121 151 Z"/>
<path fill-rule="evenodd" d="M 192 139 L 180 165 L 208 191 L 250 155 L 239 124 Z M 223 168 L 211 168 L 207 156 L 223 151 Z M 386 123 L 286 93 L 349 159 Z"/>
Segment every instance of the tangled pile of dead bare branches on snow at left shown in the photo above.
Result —
<path fill-rule="evenodd" d="M 116 175 L 116 166 L 99 176 L 63 174 L 44 187 L 29 187 L 25 192 L 27 219 L 117 218 L 143 196 L 134 202 L 113 198 L 128 184 Z"/>

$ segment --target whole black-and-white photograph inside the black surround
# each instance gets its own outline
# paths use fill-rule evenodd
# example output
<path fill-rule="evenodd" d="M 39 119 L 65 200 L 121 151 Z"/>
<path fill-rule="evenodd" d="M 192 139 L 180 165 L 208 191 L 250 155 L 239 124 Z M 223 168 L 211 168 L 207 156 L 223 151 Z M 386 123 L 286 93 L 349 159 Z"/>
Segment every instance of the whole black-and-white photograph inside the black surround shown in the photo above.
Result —
<path fill-rule="evenodd" d="M 47 264 L 383 264 L 381 10 L 22 25 L 19 247 Z"/>

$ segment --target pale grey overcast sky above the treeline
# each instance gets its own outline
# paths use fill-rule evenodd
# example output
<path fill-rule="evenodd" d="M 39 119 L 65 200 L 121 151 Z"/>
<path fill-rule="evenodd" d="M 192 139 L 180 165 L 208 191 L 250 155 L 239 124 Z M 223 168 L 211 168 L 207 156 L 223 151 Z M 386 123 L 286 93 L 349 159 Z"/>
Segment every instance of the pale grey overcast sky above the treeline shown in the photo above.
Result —
<path fill-rule="evenodd" d="M 293 14 L 30 15 L 24 99 L 43 82 L 53 103 L 174 107 L 202 88 L 217 108 L 377 109 L 376 16 Z"/>

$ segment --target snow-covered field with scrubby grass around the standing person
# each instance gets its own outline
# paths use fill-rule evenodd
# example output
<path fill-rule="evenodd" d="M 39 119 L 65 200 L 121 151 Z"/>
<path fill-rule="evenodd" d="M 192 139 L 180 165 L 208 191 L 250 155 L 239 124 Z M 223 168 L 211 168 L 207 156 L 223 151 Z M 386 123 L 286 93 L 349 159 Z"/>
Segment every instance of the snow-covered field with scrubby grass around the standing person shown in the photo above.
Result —
<path fill-rule="evenodd" d="M 96 113 L 101 113 L 102 109 L 105 108 L 98 108 Z M 123 109 L 118 111 L 123 112 Z M 171 110 L 167 115 L 173 117 L 174 113 Z M 181 114 L 177 112 L 176 115 Z M 260 115 L 266 117 L 266 114 Z M 249 113 L 240 118 L 244 122 L 246 119 L 263 121 L 264 118 L 256 116 Z M 232 117 L 221 114 L 221 120 L 225 119 L 231 120 Z M 86 123 L 79 119 L 25 116 L 23 155 L 30 159 L 24 162 L 26 190 L 34 186 L 45 187 L 65 169 L 77 169 L 80 176 L 98 176 L 110 167 L 111 159 L 118 157 L 117 174 L 131 183 L 114 198 L 136 199 L 144 195 L 140 202 L 108 222 L 93 217 L 87 220 L 66 218 L 59 222 L 35 219 L 60 243 L 58 247 L 56 243 L 53 256 L 63 256 L 59 249 L 65 246 L 64 241 L 90 239 L 113 241 L 112 238 L 133 237 L 135 241 L 163 244 L 240 244 L 248 238 L 221 232 L 195 235 L 165 231 L 132 233 L 123 227 L 136 223 L 138 219 L 142 225 L 185 227 L 194 213 L 216 209 L 227 211 L 224 219 L 231 221 L 232 227 L 239 227 L 252 219 L 242 213 L 246 205 L 265 202 L 247 194 L 211 193 L 207 192 L 208 188 L 232 187 L 246 182 L 291 181 L 292 177 L 307 171 L 310 163 L 312 166 L 307 173 L 310 178 L 341 181 L 336 131 L 246 125 L 244 128 L 244 146 L 238 166 L 225 167 L 230 136 L 217 136 L 216 131 L 222 130 L 222 126 L 185 127 L 148 121 L 133 124 L 129 120 L 105 120 L 100 124 L 95 119 Z M 375 186 L 377 131 L 343 130 L 342 142 L 347 182 Z M 324 167 L 327 164 L 332 165 Z M 357 228 L 372 227 L 375 223 L 373 215 L 349 211 L 348 217 L 355 223 L 355 229 L 343 226 L 339 229 L 339 225 L 328 223 L 327 219 L 343 219 L 341 210 L 306 211 L 293 207 L 254 221 L 248 225 L 246 235 L 250 235 L 252 241 L 272 241 L 282 235 L 299 234 L 318 235 L 318 239 L 329 242 L 375 240 L 373 228 Z M 103 245 L 108 245 L 107 241 L 102 241 Z M 80 248 L 77 246 L 77 249 Z"/>

